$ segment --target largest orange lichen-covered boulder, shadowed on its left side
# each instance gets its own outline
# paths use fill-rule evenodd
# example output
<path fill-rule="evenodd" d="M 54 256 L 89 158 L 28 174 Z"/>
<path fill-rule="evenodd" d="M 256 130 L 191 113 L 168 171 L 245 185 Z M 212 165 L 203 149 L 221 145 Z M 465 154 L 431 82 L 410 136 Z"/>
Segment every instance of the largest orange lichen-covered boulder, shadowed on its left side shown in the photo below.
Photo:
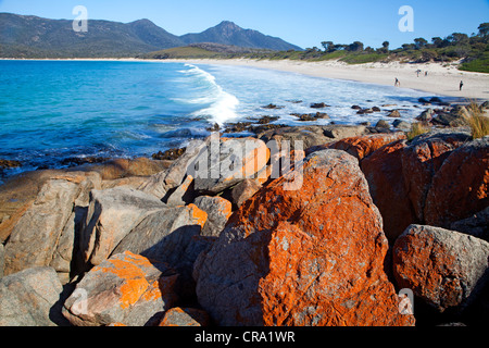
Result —
<path fill-rule="evenodd" d="M 199 257 L 200 304 L 221 325 L 413 324 L 384 273 L 388 243 L 358 160 L 324 150 L 301 170 L 300 188 L 262 188 Z"/>

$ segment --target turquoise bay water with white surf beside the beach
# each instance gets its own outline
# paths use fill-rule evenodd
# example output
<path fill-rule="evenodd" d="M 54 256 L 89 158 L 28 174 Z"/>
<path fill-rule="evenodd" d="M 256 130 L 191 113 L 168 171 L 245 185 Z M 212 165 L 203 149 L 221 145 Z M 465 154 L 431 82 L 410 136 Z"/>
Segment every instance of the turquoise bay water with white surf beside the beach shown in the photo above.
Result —
<path fill-rule="evenodd" d="M 426 92 L 229 65 L 124 61 L 0 61 L 0 159 L 21 171 L 63 167 L 67 159 L 134 158 L 205 137 L 211 125 L 276 115 L 274 123 L 359 124 L 394 104 L 403 120 L 421 112 Z M 325 102 L 329 120 L 300 122 Z M 274 103 L 281 109 L 267 110 Z M 384 110 L 384 108 L 383 108 Z M 1 178 L 0 178 L 1 179 Z"/>

